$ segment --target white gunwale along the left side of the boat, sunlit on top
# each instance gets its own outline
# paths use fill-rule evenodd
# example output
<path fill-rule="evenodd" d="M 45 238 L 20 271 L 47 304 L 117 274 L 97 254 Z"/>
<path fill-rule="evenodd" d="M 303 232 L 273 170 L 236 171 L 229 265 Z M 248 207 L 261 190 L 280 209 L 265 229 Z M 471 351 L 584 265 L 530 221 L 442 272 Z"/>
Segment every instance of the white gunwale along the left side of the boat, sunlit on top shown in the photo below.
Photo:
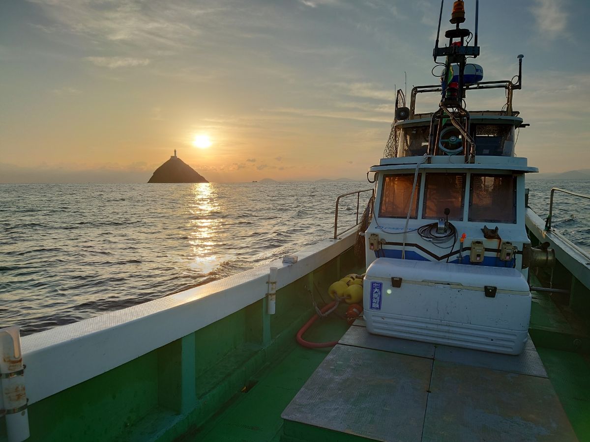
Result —
<path fill-rule="evenodd" d="M 282 260 L 154 301 L 22 338 L 29 404 L 89 380 L 263 299 L 270 267 L 277 289 L 313 272 L 355 242 L 356 230 Z M 277 296 L 280 303 L 280 295 Z M 51 379 L 51 382 L 47 382 Z"/>

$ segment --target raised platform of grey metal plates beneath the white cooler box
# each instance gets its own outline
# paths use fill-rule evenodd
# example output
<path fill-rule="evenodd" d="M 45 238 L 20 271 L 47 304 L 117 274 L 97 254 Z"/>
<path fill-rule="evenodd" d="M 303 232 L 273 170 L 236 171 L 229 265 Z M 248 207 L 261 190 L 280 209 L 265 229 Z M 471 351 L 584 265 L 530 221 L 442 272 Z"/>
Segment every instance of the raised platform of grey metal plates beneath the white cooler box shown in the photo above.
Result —
<path fill-rule="evenodd" d="M 371 335 L 362 323 L 282 417 L 283 441 L 578 440 L 532 341 L 499 355 Z"/>

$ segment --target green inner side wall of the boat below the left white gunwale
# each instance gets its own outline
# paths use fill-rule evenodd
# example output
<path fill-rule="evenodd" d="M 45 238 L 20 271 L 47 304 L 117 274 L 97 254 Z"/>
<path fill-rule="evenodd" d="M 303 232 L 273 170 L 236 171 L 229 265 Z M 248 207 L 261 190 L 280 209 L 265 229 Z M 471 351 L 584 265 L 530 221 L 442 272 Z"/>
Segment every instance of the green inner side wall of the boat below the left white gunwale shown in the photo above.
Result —
<path fill-rule="evenodd" d="M 175 440 L 207 427 L 240 397 L 256 394 L 262 387 L 257 379 L 270 367 L 280 367 L 280 361 L 292 358 L 293 351 L 313 354 L 296 375 L 302 385 L 327 354 L 326 350 L 297 348 L 296 332 L 313 314 L 307 289 L 313 287 L 314 296 L 319 299 L 318 292 L 326 293 L 339 275 L 358 272 L 361 267 L 349 248 L 303 278 L 278 289 L 274 315 L 266 313 L 266 298 L 260 299 L 181 339 L 30 404 L 28 440 Z M 332 340 L 338 339 L 348 327 L 342 319 L 332 325 L 334 330 L 329 333 Z M 26 354 L 24 362 L 27 363 Z M 251 385 L 254 387 L 250 392 Z M 284 405 L 297 392 L 297 385 L 286 396 L 283 394 Z M 247 394 L 241 392 L 244 389 Z M 284 388 L 279 390 L 283 392 Z M 267 413 L 261 417 L 280 421 L 280 402 L 273 398 L 267 402 L 277 405 L 274 417 Z M 248 433 L 249 428 L 244 424 L 235 431 Z M 0 441 L 5 440 L 2 419 Z"/>

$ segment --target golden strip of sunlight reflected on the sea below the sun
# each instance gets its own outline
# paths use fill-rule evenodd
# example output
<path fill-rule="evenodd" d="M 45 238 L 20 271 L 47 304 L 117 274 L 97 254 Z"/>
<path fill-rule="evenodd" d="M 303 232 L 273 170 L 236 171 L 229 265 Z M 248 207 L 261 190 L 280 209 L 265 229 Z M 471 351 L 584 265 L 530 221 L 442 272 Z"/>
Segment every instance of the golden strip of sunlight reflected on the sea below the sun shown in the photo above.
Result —
<path fill-rule="evenodd" d="M 191 214 L 188 242 L 191 245 L 190 266 L 194 270 L 209 273 L 218 262 L 214 238 L 219 229 L 219 201 L 215 184 L 192 185 L 191 200 L 187 209 Z"/>

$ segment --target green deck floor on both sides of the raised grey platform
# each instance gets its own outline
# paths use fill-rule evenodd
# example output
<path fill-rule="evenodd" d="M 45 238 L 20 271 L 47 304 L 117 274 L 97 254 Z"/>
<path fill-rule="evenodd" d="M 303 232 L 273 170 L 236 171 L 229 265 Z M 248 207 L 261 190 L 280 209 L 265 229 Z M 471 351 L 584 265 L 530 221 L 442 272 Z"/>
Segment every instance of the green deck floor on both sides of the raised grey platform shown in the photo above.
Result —
<path fill-rule="evenodd" d="M 546 296 L 533 301 L 531 327 L 539 355 L 576 436 L 582 442 L 590 442 L 590 358 L 559 348 L 562 342 L 575 338 L 577 331 L 569 328 Z M 317 321 L 306 338 L 316 342 L 337 340 L 347 328 L 345 321 L 332 315 Z M 536 337 L 533 329 L 540 331 Z M 247 392 L 238 394 L 221 413 L 181 441 L 280 441 L 281 412 L 329 351 L 299 345 L 286 349 L 282 359 L 251 380 Z"/>

